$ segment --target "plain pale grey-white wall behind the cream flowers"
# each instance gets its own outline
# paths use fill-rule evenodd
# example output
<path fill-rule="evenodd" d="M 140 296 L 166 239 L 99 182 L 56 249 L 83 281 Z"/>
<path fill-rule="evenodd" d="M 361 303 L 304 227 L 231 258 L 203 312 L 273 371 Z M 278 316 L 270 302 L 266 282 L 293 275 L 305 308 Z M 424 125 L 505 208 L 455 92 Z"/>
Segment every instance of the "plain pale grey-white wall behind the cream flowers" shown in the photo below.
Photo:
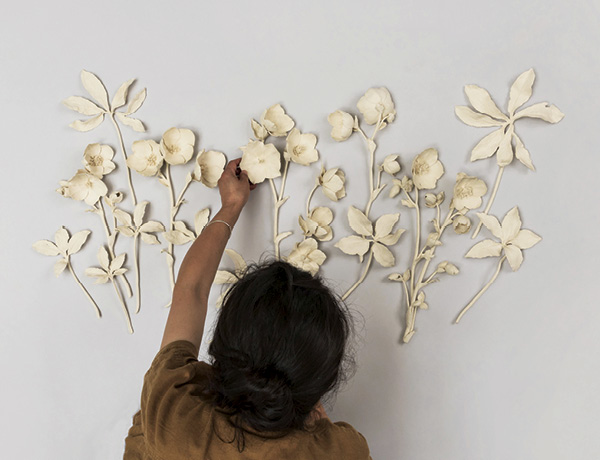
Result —
<path fill-rule="evenodd" d="M 329 137 L 328 113 L 357 112 L 364 91 L 387 86 L 398 116 L 380 136 L 379 161 L 397 153 L 408 171 L 415 154 L 435 147 L 447 194 L 459 171 L 491 187 L 495 162 L 468 162 L 487 130 L 462 124 L 453 108 L 466 103 L 470 83 L 504 107 L 514 78 L 533 67 L 531 102 L 554 103 L 566 117 L 557 125 L 517 124 L 537 172 L 507 168 L 492 212 L 502 217 L 518 204 L 524 227 L 542 243 L 525 252 L 517 273 L 505 267 L 457 326 L 453 319 L 495 261 L 463 259 L 472 241 L 448 235 L 439 253 L 462 273 L 427 291 L 430 309 L 419 313 L 409 345 L 398 343 L 400 285 L 386 281 L 392 270 L 375 266 L 350 297 L 364 316 L 358 369 L 331 416 L 361 431 L 375 459 L 600 458 L 599 17 L 597 1 L 13 3 L 0 27 L 2 457 L 120 458 L 167 316 L 164 256 L 146 246 L 142 311 L 135 334 L 127 334 L 110 286 L 83 276 L 104 241 L 99 220 L 53 191 L 80 167 L 88 143 L 118 147 L 108 121 L 83 134 L 68 127 L 77 114 L 60 101 L 85 95 L 81 69 L 99 75 L 111 95 L 132 77 L 134 90 L 148 88 L 138 112 L 148 132 L 125 129 L 128 148 L 187 127 L 199 147 L 232 159 L 251 135 L 250 118 L 282 103 L 302 131 L 318 135 L 327 166 L 346 172 L 348 195 L 334 206 L 337 241 L 350 234 L 348 206 L 367 201 L 368 157 L 358 136 L 341 144 Z M 118 151 L 116 161 L 121 167 L 109 182 L 125 191 Z M 180 170 L 177 187 L 187 171 Z M 290 169 L 280 228 L 296 234 L 284 253 L 298 239 L 297 216 L 317 172 L 317 164 Z M 152 201 L 152 217 L 164 220 L 164 189 L 133 179 L 138 196 Z M 187 197 L 187 219 L 219 203 L 215 190 L 199 184 Z M 271 199 L 267 184 L 253 192 L 231 239 L 250 260 L 272 253 Z M 313 204 L 330 202 L 317 192 Z M 372 215 L 397 211 L 400 225 L 414 228 L 411 212 L 387 191 Z M 101 320 L 71 277 L 54 279 L 54 261 L 31 249 L 63 224 L 93 231 L 73 264 Z M 396 271 L 406 268 L 413 238 L 407 232 L 393 249 Z M 323 273 L 343 291 L 360 267 L 332 243 L 323 245 Z M 130 244 L 120 240 L 119 252 Z M 209 326 L 216 297 L 215 290 Z"/>

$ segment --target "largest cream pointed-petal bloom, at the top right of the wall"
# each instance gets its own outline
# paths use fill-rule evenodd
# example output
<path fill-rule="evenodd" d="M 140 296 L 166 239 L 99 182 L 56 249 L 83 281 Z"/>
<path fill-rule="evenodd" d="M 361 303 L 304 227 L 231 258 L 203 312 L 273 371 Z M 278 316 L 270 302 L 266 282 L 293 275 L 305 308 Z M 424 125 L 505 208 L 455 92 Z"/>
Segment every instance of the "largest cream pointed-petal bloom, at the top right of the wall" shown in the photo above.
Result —
<path fill-rule="evenodd" d="M 526 107 L 519 112 L 516 110 L 530 98 L 535 81 L 535 72 L 529 69 L 517 77 L 510 88 L 507 114 L 504 114 L 492 100 L 490 94 L 477 85 L 465 86 L 465 94 L 473 109 L 467 106 L 457 106 L 455 113 L 460 120 L 478 128 L 497 126 L 498 129 L 485 136 L 473 148 L 471 161 L 489 158 L 496 154 L 499 166 L 507 166 L 513 160 L 513 155 L 531 170 L 535 170 L 529 151 L 523 145 L 521 138 L 515 133 L 515 122 L 521 118 L 539 118 L 548 123 L 558 123 L 564 114 L 555 105 L 540 102 Z M 514 145 L 513 145 L 514 142 Z"/>

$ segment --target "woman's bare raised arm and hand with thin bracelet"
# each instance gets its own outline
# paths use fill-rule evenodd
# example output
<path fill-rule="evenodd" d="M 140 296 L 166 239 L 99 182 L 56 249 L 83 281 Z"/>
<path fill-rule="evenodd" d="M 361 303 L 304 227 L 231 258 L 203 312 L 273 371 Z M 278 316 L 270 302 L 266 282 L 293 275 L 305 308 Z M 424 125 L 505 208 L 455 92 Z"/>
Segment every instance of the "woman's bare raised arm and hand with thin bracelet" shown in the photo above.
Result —
<path fill-rule="evenodd" d="M 255 187 L 245 171 L 239 172 L 240 161 L 240 158 L 232 160 L 225 167 L 218 182 L 221 209 L 196 238 L 181 263 L 161 348 L 175 340 L 188 340 L 196 349 L 200 348 L 208 294 L 230 237 L 230 226 L 233 229 L 250 190 Z"/>

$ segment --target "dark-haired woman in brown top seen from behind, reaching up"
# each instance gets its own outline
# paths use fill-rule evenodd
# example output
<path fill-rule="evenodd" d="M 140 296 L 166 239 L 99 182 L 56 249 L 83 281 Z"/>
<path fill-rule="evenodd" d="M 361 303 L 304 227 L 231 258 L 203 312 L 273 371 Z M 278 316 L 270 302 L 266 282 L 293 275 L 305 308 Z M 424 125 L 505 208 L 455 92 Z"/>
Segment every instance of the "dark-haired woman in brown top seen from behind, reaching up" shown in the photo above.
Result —
<path fill-rule="evenodd" d="M 197 360 L 210 287 L 255 187 L 239 162 L 181 264 L 124 459 L 370 459 L 364 437 L 320 403 L 344 377 L 352 323 L 319 278 L 286 262 L 251 266 L 225 296 L 212 365 Z"/>

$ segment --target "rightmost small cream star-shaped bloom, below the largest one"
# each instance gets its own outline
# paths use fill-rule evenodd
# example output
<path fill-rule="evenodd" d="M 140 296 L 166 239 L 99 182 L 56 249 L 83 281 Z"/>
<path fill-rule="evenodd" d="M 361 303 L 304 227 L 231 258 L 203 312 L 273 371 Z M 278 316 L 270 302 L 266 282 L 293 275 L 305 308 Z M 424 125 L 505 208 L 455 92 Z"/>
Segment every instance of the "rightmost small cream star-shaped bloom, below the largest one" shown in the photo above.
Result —
<path fill-rule="evenodd" d="M 529 249 L 541 241 L 541 237 L 531 230 L 521 230 L 521 217 L 519 209 L 515 206 L 506 213 L 502 224 L 498 219 L 489 214 L 477 213 L 485 227 L 492 232 L 500 242 L 487 239 L 473 246 L 465 257 L 480 259 L 482 257 L 500 257 L 504 252 L 506 260 L 513 271 L 516 271 L 523 262 L 523 249 Z"/>

